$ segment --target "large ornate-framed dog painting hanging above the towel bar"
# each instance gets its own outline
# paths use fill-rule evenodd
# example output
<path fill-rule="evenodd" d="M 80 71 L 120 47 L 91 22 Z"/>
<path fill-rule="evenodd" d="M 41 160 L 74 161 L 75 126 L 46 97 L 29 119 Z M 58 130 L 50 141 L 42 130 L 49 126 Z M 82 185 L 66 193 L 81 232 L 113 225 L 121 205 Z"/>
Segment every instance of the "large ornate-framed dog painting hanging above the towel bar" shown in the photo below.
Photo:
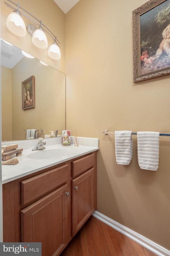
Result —
<path fill-rule="evenodd" d="M 132 12 L 134 83 L 170 74 L 170 0 L 150 0 Z"/>

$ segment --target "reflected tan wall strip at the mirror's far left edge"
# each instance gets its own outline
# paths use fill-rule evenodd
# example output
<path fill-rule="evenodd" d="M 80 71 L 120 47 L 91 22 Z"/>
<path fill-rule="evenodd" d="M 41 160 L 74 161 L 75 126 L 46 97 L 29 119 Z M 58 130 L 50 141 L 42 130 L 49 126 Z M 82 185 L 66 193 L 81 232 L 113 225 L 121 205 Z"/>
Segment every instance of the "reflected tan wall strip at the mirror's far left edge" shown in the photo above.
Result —
<path fill-rule="evenodd" d="M 2 141 L 12 140 L 12 78 L 11 69 L 1 66 Z"/>

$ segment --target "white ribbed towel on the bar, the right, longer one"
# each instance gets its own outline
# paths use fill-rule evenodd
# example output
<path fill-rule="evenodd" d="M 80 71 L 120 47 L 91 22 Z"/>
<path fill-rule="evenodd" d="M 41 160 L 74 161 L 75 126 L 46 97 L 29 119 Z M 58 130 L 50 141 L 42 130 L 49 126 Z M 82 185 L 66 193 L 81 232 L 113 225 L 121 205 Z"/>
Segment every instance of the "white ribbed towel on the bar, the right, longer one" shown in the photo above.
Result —
<path fill-rule="evenodd" d="M 141 169 L 157 171 L 159 165 L 159 133 L 138 131 L 138 164 Z"/>

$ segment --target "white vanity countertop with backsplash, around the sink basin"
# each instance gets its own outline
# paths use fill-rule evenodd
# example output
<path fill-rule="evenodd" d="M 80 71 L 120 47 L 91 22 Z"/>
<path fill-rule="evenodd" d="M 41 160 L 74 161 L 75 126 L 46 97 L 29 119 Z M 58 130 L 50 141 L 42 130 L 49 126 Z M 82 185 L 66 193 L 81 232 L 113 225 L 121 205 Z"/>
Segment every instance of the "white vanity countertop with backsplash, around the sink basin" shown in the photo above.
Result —
<path fill-rule="evenodd" d="M 52 141 L 51 138 L 48 140 Z M 90 140 L 92 139 L 90 138 Z M 94 139 L 94 140 L 98 140 L 98 139 Z M 82 141 L 84 141 L 84 138 L 82 138 Z M 62 146 L 61 144 L 51 143 L 53 145 L 47 146 L 48 144 L 50 143 L 46 143 L 46 146 L 45 146 L 46 148 L 43 150 L 39 150 L 39 152 L 43 151 L 43 154 L 44 154 L 45 150 L 47 151 L 49 149 L 55 149 L 55 148 L 59 148 L 59 149 L 68 148 L 70 150 L 68 150 L 68 153 L 65 153 L 61 156 L 56 155 L 56 157 L 46 158 L 46 159 L 30 159 L 28 158 L 28 154 L 33 154 L 34 152 L 38 152 L 38 151 L 31 151 L 31 149 L 23 150 L 22 155 L 17 156 L 19 160 L 18 164 L 2 165 L 2 184 L 18 179 L 20 177 L 24 177 L 28 174 L 43 170 L 45 168 L 54 166 L 56 164 L 63 163 L 67 160 L 76 158 L 78 156 L 88 154 L 90 152 L 93 152 L 99 149 L 98 141 L 95 141 L 95 143 L 82 142 L 82 144 L 85 144 L 85 146 L 79 145 L 78 147 L 75 147 L 74 144 L 71 144 L 70 146 Z M 87 146 L 87 144 L 91 144 L 92 146 Z M 16 157 L 16 155 L 13 155 L 11 158 L 14 158 L 14 157 Z"/>

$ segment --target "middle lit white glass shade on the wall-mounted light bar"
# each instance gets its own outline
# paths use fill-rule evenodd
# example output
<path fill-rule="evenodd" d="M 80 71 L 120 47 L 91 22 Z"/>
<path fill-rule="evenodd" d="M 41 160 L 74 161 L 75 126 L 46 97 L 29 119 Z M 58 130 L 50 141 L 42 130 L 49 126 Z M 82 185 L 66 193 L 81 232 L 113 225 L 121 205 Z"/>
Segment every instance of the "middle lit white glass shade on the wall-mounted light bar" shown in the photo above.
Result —
<path fill-rule="evenodd" d="M 37 28 L 32 35 L 32 42 L 35 46 L 41 49 L 48 47 L 47 37 L 42 28 Z"/>

